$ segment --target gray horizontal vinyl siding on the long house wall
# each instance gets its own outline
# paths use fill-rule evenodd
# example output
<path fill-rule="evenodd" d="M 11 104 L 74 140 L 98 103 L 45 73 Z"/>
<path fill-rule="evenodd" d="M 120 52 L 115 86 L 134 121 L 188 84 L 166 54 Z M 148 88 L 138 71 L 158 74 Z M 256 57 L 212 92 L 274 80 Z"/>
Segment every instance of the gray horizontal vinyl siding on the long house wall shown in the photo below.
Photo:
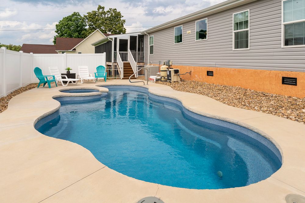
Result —
<path fill-rule="evenodd" d="M 247 9 L 250 49 L 233 51 L 232 14 Z M 208 39 L 202 41 L 195 41 L 195 21 L 199 19 L 181 24 L 182 44 L 174 44 L 175 26 L 149 33 L 154 35 L 154 54 L 149 55 L 149 62 L 171 60 L 174 65 L 305 72 L 305 47 L 282 48 L 281 9 L 281 0 L 258 0 L 205 16 Z M 188 30 L 191 34 L 187 34 Z M 145 35 L 146 63 L 147 49 Z"/>

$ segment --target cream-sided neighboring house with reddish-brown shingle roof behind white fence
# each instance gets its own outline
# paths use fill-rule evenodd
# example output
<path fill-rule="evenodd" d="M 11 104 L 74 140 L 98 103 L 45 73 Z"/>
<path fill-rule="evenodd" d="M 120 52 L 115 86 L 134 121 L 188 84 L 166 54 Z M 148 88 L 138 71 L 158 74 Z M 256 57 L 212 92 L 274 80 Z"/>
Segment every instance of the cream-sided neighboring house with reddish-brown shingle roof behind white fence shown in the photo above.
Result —
<path fill-rule="evenodd" d="M 85 39 L 57 37 L 56 51 L 59 54 L 92 54 L 95 52 L 95 49 L 91 44 L 109 35 L 111 34 L 103 34 L 97 29 Z"/>

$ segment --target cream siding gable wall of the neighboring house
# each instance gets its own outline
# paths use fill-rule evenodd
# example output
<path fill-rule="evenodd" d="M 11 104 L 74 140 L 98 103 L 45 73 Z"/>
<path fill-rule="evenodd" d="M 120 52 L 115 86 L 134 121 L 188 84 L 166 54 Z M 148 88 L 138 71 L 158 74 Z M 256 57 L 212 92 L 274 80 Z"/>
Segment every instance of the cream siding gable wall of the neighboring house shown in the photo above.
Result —
<path fill-rule="evenodd" d="M 77 54 L 78 52 L 81 52 L 82 54 L 94 54 L 95 49 L 94 49 L 94 46 L 92 46 L 91 44 L 104 37 L 105 36 L 102 33 L 100 33 L 99 31 L 96 31 L 90 37 L 88 37 L 87 39 L 82 41 L 81 44 L 79 44 L 76 47 L 75 54 Z"/>

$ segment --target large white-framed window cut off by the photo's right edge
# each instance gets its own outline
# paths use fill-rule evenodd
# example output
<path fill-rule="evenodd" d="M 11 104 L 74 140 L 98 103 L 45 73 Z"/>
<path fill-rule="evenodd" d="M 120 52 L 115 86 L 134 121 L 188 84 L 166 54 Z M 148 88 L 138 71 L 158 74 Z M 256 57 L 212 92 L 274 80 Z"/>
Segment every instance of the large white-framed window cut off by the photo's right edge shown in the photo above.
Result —
<path fill-rule="evenodd" d="M 305 45 L 305 0 L 285 0 L 282 8 L 282 47 L 303 47 Z"/>

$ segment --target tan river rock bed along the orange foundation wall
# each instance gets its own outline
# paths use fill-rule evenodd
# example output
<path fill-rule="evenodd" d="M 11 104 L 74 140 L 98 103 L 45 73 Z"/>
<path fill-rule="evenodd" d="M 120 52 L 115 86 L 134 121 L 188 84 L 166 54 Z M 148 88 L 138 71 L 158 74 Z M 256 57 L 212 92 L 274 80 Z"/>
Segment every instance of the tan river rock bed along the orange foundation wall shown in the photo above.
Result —
<path fill-rule="evenodd" d="M 227 105 L 259 111 L 305 124 L 305 97 L 283 96 L 239 86 L 209 84 L 197 81 L 160 82 L 181 91 L 202 94 Z M 304 90 L 305 91 L 305 90 Z"/>

